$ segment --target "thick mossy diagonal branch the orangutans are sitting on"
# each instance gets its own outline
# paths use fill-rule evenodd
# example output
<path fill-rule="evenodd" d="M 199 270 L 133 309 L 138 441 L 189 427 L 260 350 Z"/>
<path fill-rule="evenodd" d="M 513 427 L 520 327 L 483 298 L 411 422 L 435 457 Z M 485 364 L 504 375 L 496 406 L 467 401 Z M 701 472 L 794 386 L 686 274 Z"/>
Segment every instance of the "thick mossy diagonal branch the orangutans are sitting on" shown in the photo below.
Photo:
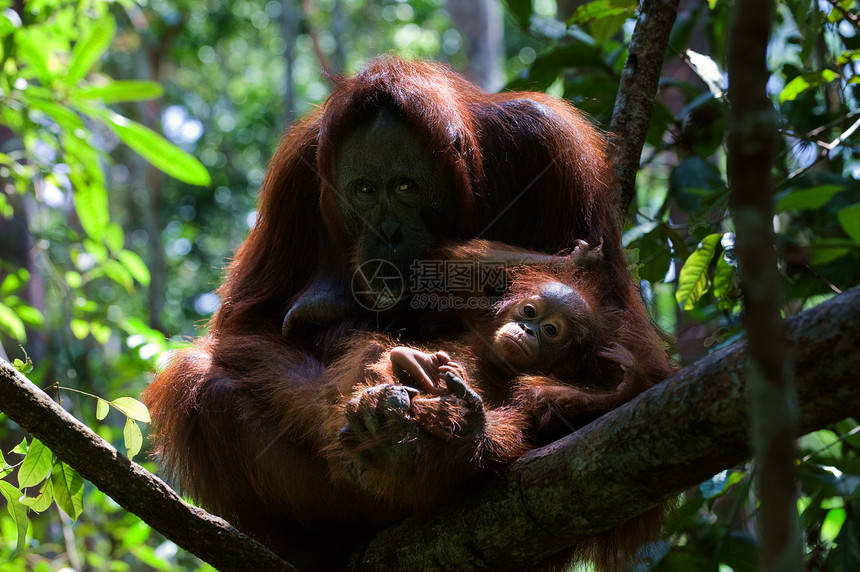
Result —
<path fill-rule="evenodd" d="M 860 287 L 787 321 L 797 434 L 860 411 Z M 486 492 L 378 534 L 355 570 L 522 568 L 750 457 L 745 343 L 520 459 Z M 527 540 L 523 540 L 527 539 Z"/>

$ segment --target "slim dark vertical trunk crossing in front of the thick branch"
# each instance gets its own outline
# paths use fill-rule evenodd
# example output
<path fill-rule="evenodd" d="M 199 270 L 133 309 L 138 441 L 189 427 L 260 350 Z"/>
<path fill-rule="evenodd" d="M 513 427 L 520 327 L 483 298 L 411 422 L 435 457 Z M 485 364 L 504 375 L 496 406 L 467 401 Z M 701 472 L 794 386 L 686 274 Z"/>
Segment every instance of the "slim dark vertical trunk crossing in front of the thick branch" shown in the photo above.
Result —
<path fill-rule="evenodd" d="M 793 438 L 796 396 L 786 363 L 780 315 L 782 276 L 773 237 L 773 180 L 777 122 L 767 96 L 767 48 L 773 20 L 770 0 L 738 0 L 729 32 L 731 127 L 727 171 L 735 252 L 749 343 L 751 434 L 756 457 L 758 523 L 765 570 L 802 569 L 797 535 Z"/>

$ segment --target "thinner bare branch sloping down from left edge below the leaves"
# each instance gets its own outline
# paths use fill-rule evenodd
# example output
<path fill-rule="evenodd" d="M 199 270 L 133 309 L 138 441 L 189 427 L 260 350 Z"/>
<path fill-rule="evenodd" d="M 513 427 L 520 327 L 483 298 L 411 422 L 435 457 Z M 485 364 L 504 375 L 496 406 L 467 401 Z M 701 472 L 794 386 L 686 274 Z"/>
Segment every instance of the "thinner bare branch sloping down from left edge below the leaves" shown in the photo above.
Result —
<path fill-rule="evenodd" d="M 225 520 L 183 501 L 5 360 L 0 360 L 0 410 L 125 510 L 219 570 L 295 570 Z"/>

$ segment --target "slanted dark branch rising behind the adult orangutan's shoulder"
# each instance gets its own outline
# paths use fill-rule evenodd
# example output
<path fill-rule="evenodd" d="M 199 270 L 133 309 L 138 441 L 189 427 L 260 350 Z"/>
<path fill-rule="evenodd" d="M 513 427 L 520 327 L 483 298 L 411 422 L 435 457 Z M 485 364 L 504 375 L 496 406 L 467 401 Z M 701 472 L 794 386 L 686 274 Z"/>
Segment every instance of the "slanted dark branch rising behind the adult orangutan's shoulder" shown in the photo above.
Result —
<path fill-rule="evenodd" d="M 615 165 L 619 182 L 615 197 L 620 224 L 624 224 L 636 192 L 639 157 L 654 113 L 654 99 L 677 13 L 678 0 L 642 1 L 621 72 L 609 126 L 614 141 L 609 159 Z"/>

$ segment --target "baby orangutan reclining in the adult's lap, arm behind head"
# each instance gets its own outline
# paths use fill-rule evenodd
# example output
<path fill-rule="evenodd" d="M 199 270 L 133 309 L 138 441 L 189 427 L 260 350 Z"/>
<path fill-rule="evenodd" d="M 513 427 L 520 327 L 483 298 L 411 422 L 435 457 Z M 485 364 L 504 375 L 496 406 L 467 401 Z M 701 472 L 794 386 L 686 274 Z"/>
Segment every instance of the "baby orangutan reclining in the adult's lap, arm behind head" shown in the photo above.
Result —
<path fill-rule="evenodd" d="M 622 317 L 600 309 L 588 277 L 582 265 L 519 268 L 494 312 L 467 324 L 471 333 L 437 351 L 392 347 L 371 366 L 375 383 L 414 388 L 416 415 L 430 397 L 510 403 L 525 414 L 529 440 L 561 437 L 653 383 L 623 344 Z M 419 424 L 447 439 L 458 429 Z"/>

